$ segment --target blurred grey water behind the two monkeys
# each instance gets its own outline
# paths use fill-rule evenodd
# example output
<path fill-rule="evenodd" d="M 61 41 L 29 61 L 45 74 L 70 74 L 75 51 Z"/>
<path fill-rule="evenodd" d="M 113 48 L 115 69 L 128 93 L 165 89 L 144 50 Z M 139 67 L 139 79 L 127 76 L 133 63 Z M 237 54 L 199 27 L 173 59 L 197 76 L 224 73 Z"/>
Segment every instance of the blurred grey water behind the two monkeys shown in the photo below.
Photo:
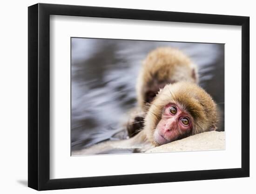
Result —
<path fill-rule="evenodd" d="M 141 61 L 156 47 L 176 47 L 187 54 L 198 66 L 199 85 L 224 113 L 224 44 L 72 38 L 72 151 L 126 137 L 115 134 L 123 131 L 128 110 L 136 106 Z M 218 130 L 224 131 L 224 114 L 221 122 Z"/>

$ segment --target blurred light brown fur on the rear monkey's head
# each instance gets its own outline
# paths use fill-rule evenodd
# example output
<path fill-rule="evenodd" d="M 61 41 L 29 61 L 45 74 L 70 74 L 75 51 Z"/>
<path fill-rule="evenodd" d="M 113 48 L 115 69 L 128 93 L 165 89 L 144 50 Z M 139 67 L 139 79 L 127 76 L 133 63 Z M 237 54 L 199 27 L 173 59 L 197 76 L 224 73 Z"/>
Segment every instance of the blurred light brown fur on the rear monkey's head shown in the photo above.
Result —
<path fill-rule="evenodd" d="M 148 89 L 159 90 L 159 86 L 178 81 L 198 82 L 195 64 L 182 51 L 171 47 L 159 47 L 151 51 L 144 60 L 138 76 L 136 93 L 138 105 L 147 111 L 145 94 Z M 145 106 L 146 105 L 146 106 Z"/>

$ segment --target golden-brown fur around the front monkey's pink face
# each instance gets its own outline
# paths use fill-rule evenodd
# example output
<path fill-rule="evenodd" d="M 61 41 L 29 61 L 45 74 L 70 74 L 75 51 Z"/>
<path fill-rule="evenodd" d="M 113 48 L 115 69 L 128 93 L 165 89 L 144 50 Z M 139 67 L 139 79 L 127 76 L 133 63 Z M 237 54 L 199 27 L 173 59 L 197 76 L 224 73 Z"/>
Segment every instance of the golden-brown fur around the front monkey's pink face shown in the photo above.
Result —
<path fill-rule="evenodd" d="M 169 104 L 178 104 L 187 110 L 194 119 L 190 135 L 216 130 L 216 103 L 201 87 L 189 82 L 166 85 L 155 97 L 145 118 L 143 132 L 148 141 L 154 142 L 155 127 L 161 120 L 163 108 Z"/>

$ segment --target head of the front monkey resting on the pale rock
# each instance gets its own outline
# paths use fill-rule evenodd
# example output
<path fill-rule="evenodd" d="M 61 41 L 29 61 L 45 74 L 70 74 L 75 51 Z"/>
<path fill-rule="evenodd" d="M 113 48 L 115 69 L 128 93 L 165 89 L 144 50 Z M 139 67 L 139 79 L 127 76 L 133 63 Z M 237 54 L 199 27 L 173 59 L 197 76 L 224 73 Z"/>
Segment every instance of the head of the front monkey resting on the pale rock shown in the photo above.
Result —
<path fill-rule="evenodd" d="M 189 135 L 216 130 L 216 103 L 201 87 L 189 82 L 166 85 L 145 118 L 147 139 L 159 146 Z"/>

